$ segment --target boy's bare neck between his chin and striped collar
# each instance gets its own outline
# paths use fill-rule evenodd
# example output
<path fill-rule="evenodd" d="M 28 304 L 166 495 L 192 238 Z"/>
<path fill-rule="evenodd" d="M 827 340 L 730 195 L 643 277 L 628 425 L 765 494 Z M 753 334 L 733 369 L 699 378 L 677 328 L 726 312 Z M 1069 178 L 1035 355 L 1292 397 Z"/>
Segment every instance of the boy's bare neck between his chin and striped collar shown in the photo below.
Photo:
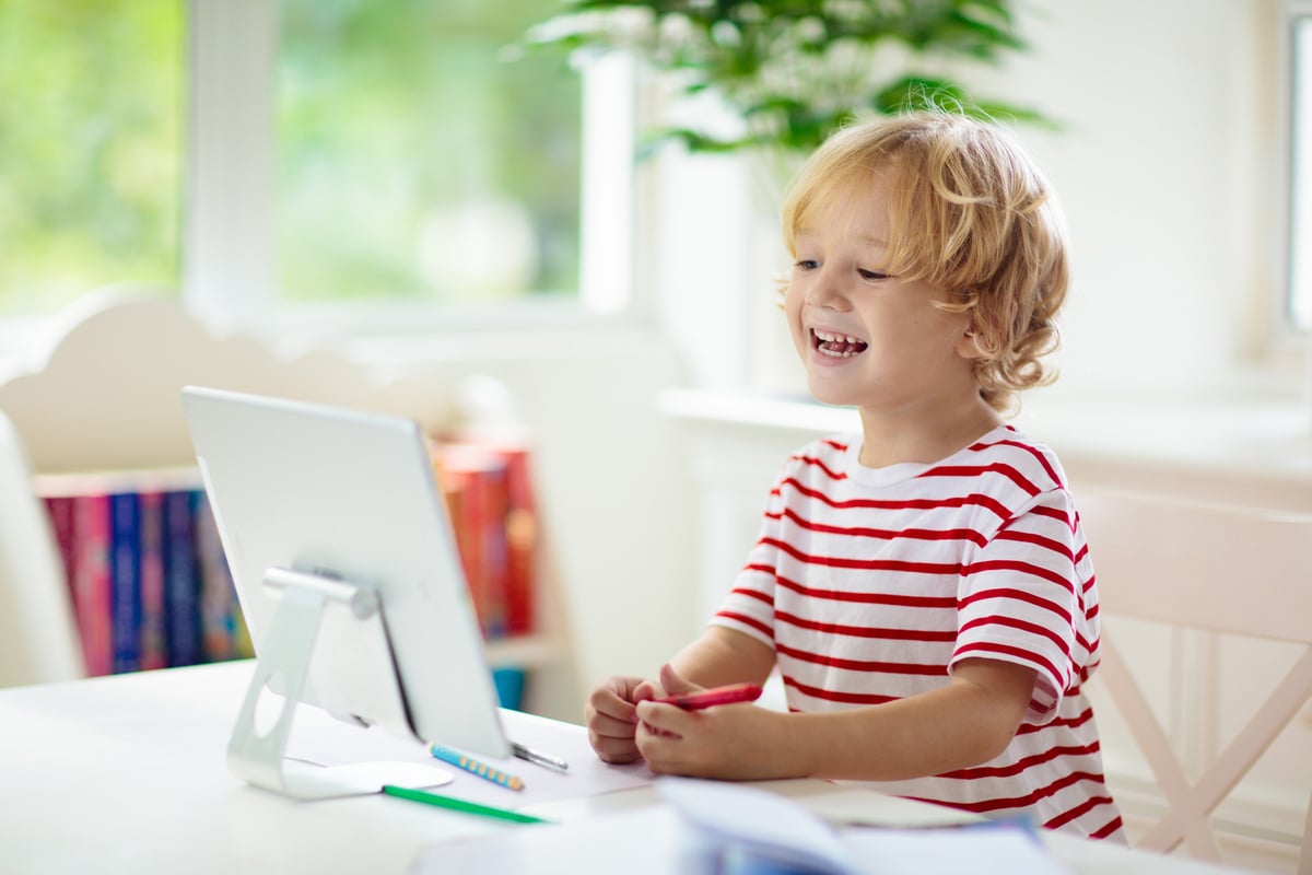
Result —
<path fill-rule="evenodd" d="M 930 464 L 970 446 L 998 425 L 1002 417 L 983 400 L 939 416 L 926 416 L 924 411 L 861 408 L 861 464 L 867 468 L 903 462 Z"/>

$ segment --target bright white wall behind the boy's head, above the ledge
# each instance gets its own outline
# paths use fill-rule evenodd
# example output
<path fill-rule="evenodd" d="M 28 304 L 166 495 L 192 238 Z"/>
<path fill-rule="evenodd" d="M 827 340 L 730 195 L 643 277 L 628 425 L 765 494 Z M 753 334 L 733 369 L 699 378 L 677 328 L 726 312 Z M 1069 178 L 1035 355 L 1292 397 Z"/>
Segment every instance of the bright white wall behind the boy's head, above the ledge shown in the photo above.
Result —
<path fill-rule="evenodd" d="M 1303 345 L 1291 354 L 1273 316 L 1286 184 L 1278 0 L 1019 5 L 1031 51 L 972 81 L 1063 126 L 1017 129 L 1072 236 L 1063 376 L 1044 397 L 1296 399 Z M 799 391 L 773 308 L 786 261 L 768 186 L 723 157 L 663 172 L 664 248 L 648 279 L 694 373 Z"/>

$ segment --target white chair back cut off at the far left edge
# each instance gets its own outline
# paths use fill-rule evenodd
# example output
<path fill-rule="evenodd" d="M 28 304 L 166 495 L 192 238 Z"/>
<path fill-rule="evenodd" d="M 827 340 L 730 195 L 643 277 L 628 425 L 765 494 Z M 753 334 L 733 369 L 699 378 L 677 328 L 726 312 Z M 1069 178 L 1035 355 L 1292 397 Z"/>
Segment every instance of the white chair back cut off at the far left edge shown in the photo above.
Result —
<path fill-rule="evenodd" d="M 0 412 L 0 686 L 84 674 L 63 563 L 31 467 Z"/>

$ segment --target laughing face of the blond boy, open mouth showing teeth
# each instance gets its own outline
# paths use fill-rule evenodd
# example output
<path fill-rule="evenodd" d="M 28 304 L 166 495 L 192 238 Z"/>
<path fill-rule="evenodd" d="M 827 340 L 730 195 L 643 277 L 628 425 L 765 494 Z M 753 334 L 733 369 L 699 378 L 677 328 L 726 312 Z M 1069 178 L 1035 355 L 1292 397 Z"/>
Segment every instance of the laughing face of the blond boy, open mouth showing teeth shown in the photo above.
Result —
<path fill-rule="evenodd" d="M 970 316 L 934 306 L 946 291 L 884 273 L 884 174 L 842 189 L 851 194 L 816 205 L 796 230 L 785 296 L 811 394 L 878 415 L 935 417 L 976 404 Z"/>

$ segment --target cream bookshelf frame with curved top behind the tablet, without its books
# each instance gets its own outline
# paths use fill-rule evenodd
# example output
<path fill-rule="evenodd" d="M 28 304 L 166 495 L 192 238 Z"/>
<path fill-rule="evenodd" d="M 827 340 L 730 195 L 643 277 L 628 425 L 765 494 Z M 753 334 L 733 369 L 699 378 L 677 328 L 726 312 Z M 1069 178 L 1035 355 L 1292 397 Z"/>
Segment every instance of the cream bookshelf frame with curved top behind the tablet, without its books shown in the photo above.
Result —
<path fill-rule="evenodd" d="M 22 488 L 30 488 L 46 513 L 49 500 L 60 497 L 203 495 L 178 401 L 189 383 L 405 416 L 438 442 L 467 425 L 459 399 L 436 380 L 382 378 L 325 352 L 283 356 L 253 337 L 210 329 L 171 296 L 105 290 L 63 314 L 54 342 L 30 370 L 0 380 L 0 411 L 13 422 L 29 460 L 31 476 Z M 467 437 L 462 442 L 474 445 L 463 451 L 474 455 L 476 442 Z M 531 624 L 521 621 L 512 630 L 505 615 L 491 621 L 488 657 L 495 669 L 527 676 L 521 707 L 572 715 L 580 694 L 571 639 L 544 526 L 538 521 L 534 529 L 538 537 L 525 560 L 534 581 Z M 0 531 L 0 540 L 4 535 Z M 66 597 L 72 594 L 67 581 L 9 576 L 14 579 L 0 579 L 0 590 L 62 585 Z M 239 627 L 232 631 L 236 643 L 228 656 L 243 656 L 249 645 L 243 648 Z M 50 632 L 56 634 L 62 632 Z M 104 668 L 100 659 L 89 666 L 93 673 Z M 154 659 L 147 668 L 157 665 Z M 54 678 L 31 678 L 37 680 Z M 514 687 L 512 678 L 506 691 Z"/>

